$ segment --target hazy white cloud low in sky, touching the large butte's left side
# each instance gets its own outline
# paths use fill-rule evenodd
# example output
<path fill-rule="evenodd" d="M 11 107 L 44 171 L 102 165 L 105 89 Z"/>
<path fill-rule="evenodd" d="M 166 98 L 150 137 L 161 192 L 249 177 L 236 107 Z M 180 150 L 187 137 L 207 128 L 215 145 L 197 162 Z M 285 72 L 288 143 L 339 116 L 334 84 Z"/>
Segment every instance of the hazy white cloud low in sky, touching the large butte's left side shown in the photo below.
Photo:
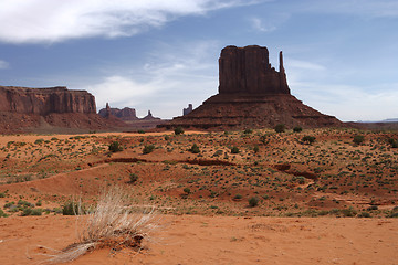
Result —
<path fill-rule="evenodd" d="M 189 103 L 197 107 L 218 92 L 218 64 L 209 54 L 218 51 L 214 46 L 212 41 L 164 44 L 127 74 L 108 75 L 82 87 L 95 95 L 98 109 L 109 103 L 112 107 L 136 108 L 138 116 L 146 115 L 147 109 L 161 118 L 180 116 Z"/>

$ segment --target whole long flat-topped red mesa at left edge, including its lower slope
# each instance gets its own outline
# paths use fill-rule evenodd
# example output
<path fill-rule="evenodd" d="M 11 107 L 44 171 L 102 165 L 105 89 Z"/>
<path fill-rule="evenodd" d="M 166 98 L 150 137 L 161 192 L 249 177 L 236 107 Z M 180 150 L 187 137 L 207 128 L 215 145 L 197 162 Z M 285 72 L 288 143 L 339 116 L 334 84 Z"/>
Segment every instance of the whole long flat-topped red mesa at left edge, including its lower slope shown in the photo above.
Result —
<path fill-rule="evenodd" d="M 86 91 L 57 86 L 28 88 L 0 86 L 0 132 L 52 131 L 57 128 L 108 129 L 121 120 L 96 114 L 95 98 Z"/>

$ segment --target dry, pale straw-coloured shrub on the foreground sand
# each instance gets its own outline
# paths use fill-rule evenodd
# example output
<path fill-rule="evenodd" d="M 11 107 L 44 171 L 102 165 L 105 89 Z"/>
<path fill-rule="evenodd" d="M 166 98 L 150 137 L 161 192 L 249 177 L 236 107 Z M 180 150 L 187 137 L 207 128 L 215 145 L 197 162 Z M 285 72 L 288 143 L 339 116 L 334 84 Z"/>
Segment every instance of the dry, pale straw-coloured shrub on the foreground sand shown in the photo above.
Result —
<path fill-rule="evenodd" d="M 77 218 L 77 243 L 50 255 L 46 263 L 71 262 L 104 247 L 111 248 L 111 252 L 125 247 L 139 251 L 143 239 L 148 239 L 158 225 L 154 208 L 140 213 L 132 212 L 126 206 L 129 201 L 128 193 L 119 187 L 102 192 L 87 216 Z"/>

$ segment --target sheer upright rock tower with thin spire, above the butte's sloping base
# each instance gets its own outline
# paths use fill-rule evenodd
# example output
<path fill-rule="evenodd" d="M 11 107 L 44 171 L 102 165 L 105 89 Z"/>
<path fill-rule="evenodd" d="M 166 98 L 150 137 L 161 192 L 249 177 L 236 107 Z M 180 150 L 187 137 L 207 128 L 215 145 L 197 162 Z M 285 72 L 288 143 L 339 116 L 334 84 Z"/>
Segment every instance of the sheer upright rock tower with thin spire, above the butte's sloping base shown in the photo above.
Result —
<path fill-rule="evenodd" d="M 280 72 L 265 46 L 226 46 L 219 59 L 219 94 L 290 94 L 280 52 Z"/>

